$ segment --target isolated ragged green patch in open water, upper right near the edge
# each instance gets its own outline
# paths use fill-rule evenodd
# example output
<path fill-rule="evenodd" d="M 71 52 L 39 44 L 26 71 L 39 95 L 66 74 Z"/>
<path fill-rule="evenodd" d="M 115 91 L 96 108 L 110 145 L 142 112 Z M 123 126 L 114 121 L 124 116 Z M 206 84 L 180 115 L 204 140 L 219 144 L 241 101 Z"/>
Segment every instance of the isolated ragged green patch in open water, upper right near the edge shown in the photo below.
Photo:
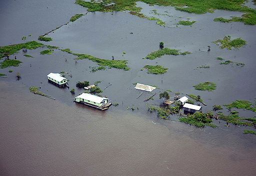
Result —
<path fill-rule="evenodd" d="M 215 43 L 216 45 L 220 45 L 220 48 L 227 48 L 227 49 L 231 49 L 231 48 L 239 48 L 242 47 L 246 44 L 246 41 L 241 39 L 241 38 L 235 38 L 233 40 L 231 40 L 230 36 L 224 36 L 224 38 L 221 40 L 216 40 L 213 41 L 213 43 Z"/>

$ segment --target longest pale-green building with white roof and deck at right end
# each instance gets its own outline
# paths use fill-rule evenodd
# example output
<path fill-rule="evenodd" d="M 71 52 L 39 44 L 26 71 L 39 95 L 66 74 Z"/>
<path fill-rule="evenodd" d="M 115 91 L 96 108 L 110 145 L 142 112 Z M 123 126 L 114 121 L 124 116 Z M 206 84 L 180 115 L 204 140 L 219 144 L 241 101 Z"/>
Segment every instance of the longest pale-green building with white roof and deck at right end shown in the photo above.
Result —
<path fill-rule="evenodd" d="M 109 103 L 108 100 L 109 99 L 105 97 L 82 93 L 81 95 L 75 97 L 74 101 L 93 108 L 105 110 L 108 109 L 109 106 L 111 106 L 111 103 Z"/>

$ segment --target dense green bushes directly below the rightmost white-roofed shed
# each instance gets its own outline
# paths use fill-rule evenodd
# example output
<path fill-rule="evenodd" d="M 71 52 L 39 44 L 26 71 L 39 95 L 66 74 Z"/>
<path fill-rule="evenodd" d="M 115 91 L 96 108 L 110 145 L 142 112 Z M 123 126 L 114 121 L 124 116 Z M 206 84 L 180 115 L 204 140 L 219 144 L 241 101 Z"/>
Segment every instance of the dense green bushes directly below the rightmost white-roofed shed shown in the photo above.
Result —
<path fill-rule="evenodd" d="M 212 121 L 210 118 L 211 114 L 209 115 L 201 112 L 195 112 L 194 114 L 179 118 L 179 122 L 184 122 L 199 128 L 204 127 L 205 125 L 215 128 L 216 126 L 211 123 Z"/>

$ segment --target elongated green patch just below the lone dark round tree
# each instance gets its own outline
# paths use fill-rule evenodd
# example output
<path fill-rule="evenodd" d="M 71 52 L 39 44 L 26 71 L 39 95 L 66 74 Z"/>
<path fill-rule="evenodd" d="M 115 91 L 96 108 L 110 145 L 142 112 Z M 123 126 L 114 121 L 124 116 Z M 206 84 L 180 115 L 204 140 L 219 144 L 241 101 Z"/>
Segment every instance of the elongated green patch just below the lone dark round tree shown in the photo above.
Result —
<path fill-rule="evenodd" d="M 190 52 L 186 51 L 184 53 L 188 54 Z M 176 50 L 176 49 L 163 48 L 163 49 L 158 49 L 157 51 L 151 52 L 145 58 L 153 60 L 153 59 L 156 59 L 157 57 L 161 57 L 163 55 L 179 55 L 179 54 L 181 54 L 181 53 L 178 52 L 178 50 Z M 184 55 L 184 54 L 182 53 L 182 55 Z"/>

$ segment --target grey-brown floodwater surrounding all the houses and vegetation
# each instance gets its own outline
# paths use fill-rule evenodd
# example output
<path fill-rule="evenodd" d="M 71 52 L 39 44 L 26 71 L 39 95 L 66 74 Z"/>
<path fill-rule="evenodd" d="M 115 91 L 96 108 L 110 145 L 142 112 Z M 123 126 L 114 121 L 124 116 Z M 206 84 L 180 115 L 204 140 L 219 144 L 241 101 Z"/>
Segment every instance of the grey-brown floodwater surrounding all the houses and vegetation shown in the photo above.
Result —
<path fill-rule="evenodd" d="M 125 12 L 87 13 L 50 33 L 47 44 L 70 48 L 99 58 L 128 60 L 129 71 L 106 69 L 90 72 L 96 66 L 89 60 L 55 50 L 52 55 L 40 55 L 45 48 L 28 50 L 25 58 L 20 51 L 15 56 L 23 63 L 1 69 L 7 78 L 0 79 L 0 175 L 2 176 L 154 176 L 154 175 L 225 175 L 250 176 L 255 173 L 255 136 L 243 135 L 248 127 L 198 129 L 171 120 L 160 120 L 146 111 L 143 102 L 153 94 L 134 90 L 133 83 L 156 85 L 159 89 L 154 100 L 159 105 L 160 91 L 170 89 L 183 94 L 200 94 L 211 110 L 214 104 L 226 104 L 235 99 L 253 102 L 256 54 L 255 26 L 242 23 L 218 23 L 215 17 L 239 16 L 239 12 L 216 10 L 214 13 L 190 14 L 172 7 L 148 6 L 138 2 L 144 14 L 167 11 L 171 16 L 157 16 L 166 21 L 166 27 L 155 21 L 141 19 Z M 0 2 L 0 45 L 20 43 L 66 23 L 75 13 L 86 13 L 85 8 L 69 0 Z M 192 26 L 176 26 L 178 20 L 195 20 Z M 11 21 L 11 22 L 10 22 Z M 132 32 L 132 34 L 130 34 Z M 245 47 L 233 50 L 220 49 L 212 43 L 225 35 L 241 37 Z M 162 56 L 155 60 L 142 59 L 158 49 L 159 41 L 165 47 L 190 51 L 185 56 Z M 207 52 L 210 45 L 210 52 Z M 126 54 L 123 54 L 126 52 Z M 122 56 L 123 55 L 123 56 Z M 11 56 L 14 57 L 14 56 Z M 220 65 L 216 57 L 242 62 L 244 67 Z M 164 75 L 151 75 L 140 71 L 144 65 L 162 65 L 168 68 Z M 200 65 L 209 69 L 196 69 Z M 88 80 L 100 80 L 102 95 L 117 107 L 101 112 L 73 103 L 75 95 L 47 82 L 49 72 L 68 72 L 69 85 Z M 21 79 L 16 80 L 19 72 Z M 71 76 L 70 76 L 71 75 Z M 201 92 L 193 85 L 203 81 L 216 83 L 214 92 Z M 109 84 L 108 88 L 106 88 Z M 28 92 L 29 86 L 40 87 L 47 99 Z M 106 89 L 105 89 L 106 88 Z M 131 111 L 128 107 L 135 107 Z M 255 113 L 239 111 L 253 117 Z M 214 122 L 216 123 L 216 122 Z"/>

